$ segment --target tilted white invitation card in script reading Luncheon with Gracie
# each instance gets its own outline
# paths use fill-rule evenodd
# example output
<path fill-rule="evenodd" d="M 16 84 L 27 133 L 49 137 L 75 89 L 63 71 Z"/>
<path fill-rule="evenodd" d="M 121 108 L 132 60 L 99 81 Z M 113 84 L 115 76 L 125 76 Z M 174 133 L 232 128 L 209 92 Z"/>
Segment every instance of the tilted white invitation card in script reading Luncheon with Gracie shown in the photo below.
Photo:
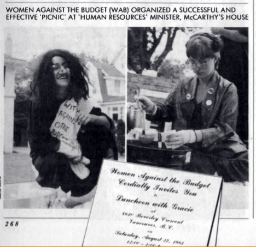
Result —
<path fill-rule="evenodd" d="M 84 246 L 208 246 L 222 178 L 104 160 Z"/>

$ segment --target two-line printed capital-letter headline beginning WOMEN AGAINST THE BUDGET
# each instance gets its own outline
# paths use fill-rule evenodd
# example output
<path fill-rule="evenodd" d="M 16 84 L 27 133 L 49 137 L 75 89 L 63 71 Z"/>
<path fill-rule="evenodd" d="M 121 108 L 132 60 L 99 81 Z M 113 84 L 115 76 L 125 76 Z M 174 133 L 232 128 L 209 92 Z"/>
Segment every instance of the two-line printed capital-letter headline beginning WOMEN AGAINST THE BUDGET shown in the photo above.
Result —
<path fill-rule="evenodd" d="M 171 5 L 171 4 L 169 4 Z M 234 7 L 6 7 L 6 20 L 249 20 Z"/>

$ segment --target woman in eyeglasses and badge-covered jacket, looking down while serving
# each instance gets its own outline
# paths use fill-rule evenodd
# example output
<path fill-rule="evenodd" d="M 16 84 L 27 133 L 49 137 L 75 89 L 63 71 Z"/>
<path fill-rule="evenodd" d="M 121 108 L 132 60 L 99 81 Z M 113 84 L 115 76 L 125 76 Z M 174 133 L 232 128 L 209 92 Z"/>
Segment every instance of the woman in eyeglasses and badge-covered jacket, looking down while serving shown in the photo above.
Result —
<path fill-rule="evenodd" d="M 177 85 L 164 104 L 139 97 L 147 119 L 172 122 L 170 145 L 193 148 L 187 171 L 218 173 L 225 182 L 248 181 L 248 150 L 236 134 L 237 90 L 216 71 L 222 41 L 210 33 L 194 34 L 186 44 L 187 65 L 195 76 Z"/>

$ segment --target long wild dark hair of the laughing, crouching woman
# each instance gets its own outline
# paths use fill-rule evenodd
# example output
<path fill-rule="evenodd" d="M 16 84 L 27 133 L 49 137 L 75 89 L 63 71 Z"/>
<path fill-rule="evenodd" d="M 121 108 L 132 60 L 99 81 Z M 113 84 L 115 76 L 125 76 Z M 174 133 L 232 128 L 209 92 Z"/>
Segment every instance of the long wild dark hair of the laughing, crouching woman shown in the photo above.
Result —
<path fill-rule="evenodd" d="M 34 73 L 31 89 L 34 97 L 44 105 L 50 106 L 56 98 L 56 83 L 53 73 L 53 57 L 62 57 L 69 64 L 71 82 L 68 86 L 67 99 L 78 101 L 89 97 L 89 77 L 82 59 L 66 50 L 50 50 L 46 52 Z"/>

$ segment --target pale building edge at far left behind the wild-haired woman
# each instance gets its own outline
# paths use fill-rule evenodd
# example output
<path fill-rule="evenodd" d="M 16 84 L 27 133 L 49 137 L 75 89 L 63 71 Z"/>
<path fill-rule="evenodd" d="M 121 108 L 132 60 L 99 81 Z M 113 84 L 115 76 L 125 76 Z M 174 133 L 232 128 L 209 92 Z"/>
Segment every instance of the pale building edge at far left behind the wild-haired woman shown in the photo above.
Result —
<path fill-rule="evenodd" d="M 14 100 L 16 97 L 14 91 L 15 67 L 17 65 L 26 64 L 26 61 L 11 57 L 11 40 L 5 45 L 5 51 L 8 52 L 8 54 L 4 54 L 4 153 L 12 153 L 14 137 Z"/>

